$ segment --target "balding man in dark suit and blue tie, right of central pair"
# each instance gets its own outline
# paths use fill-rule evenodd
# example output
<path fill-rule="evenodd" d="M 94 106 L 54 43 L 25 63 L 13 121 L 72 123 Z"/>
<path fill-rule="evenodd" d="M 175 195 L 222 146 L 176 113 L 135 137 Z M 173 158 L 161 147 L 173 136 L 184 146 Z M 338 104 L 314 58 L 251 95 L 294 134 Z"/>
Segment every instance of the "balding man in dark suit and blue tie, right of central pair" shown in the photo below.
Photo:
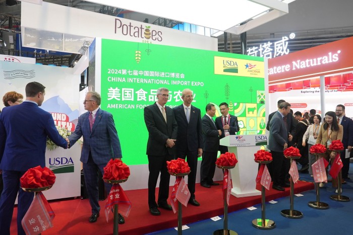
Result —
<path fill-rule="evenodd" d="M 187 159 L 190 167 L 188 175 L 188 188 L 190 190 L 189 203 L 200 206 L 195 199 L 195 182 L 197 172 L 197 158 L 202 155 L 202 124 L 201 111 L 191 105 L 193 102 L 193 92 L 185 89 L 182 92 L 183 104 L 173 108 L 175 120 L 178 123 L 178 135 L 175 142 L 177 158 Z"/>

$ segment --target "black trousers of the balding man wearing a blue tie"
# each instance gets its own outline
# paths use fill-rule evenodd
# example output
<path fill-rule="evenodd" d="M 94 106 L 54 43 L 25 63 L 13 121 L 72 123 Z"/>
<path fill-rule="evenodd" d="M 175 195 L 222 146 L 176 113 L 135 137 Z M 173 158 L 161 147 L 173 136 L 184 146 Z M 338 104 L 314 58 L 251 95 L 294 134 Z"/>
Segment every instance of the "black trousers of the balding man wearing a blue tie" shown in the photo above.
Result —
<path fill-rule="evenodd" d="M 195 183 L 196 183 L 196 173 L 197 173 L 197 155 L 198 151 L 177 151 L 176 158 L 186 159 L 189 167 L 190 174 L 188 175 L 188 188 L 190 191 L 191 198 L 195 198 Z"/>

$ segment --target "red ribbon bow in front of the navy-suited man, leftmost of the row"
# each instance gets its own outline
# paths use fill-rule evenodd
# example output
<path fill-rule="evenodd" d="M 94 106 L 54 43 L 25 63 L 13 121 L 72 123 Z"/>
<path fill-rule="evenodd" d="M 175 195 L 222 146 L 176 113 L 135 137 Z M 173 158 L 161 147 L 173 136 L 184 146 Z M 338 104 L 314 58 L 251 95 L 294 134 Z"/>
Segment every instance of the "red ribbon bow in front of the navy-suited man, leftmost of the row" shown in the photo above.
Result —
<path fill-rule="evenodd" d="M 38 166 L 28 169 L 20 182 L 22 188 L 42 188 L 53 185 L 55 178 L 56 176 L 49 168 Z"/>

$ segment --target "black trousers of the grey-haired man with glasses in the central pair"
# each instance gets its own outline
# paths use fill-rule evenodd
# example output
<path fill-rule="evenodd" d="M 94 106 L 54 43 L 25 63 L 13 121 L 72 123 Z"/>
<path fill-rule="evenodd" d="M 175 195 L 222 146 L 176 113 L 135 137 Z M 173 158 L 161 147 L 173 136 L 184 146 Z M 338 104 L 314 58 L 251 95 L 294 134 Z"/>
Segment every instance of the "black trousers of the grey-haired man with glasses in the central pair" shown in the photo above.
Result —
<path fill-rule="evenodd" d="M 158 204 L 166 204 L 169 195 L 170 175 L 167 171 L 167 161 L 172 160 L 172 155 L 148 155 L 148 206 L 157 207 Z M 156 203 L 156 186 L 160 173 L 158 204 Z"/>

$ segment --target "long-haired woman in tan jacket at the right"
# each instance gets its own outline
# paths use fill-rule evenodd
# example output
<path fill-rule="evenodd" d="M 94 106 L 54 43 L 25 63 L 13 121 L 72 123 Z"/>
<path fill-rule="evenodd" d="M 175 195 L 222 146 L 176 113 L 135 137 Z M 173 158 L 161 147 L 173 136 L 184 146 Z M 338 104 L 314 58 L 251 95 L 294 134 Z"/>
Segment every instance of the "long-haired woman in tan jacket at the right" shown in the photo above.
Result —
<path fill-rule="evenodd" d="M 332 140 L 340 140 L 343 138 L 343 126 L 337 123 L 337 117 L 335 112 L 329 111 L 325 114 L 325 123 L 321 125 L 319 135 L 316 139 L 316 143 L 321 143 L 329 148 Z M 324 158 L 327 161 L 333 163 L 335 159 L 336 152 L 334 151 L 326 151 Z M 327 170 L 326 170 L 327 171 Z M 338 177 L 342 177 L 341 173 L 338 174 Z M 334 188 L 337 187 L 337 179 L 332 179 L 332 186 Z M 323 183 L 320 183 L 320 187 L 323 187 Z"/>

